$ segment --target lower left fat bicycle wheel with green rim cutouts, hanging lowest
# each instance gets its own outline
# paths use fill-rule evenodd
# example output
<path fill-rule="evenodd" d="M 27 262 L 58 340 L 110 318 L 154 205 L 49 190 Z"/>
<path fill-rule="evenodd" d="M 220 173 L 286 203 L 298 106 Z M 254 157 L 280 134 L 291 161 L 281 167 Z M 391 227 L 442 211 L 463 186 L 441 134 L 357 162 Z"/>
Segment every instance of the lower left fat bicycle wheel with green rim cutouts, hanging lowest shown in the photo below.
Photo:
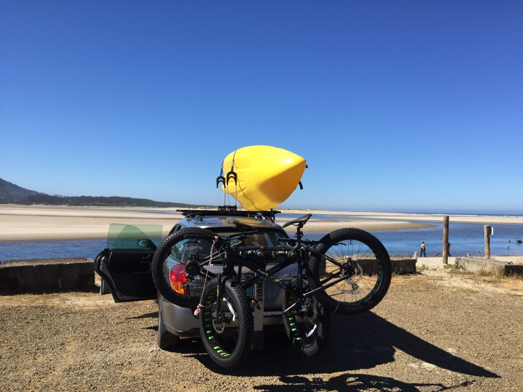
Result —
<path fill-rule="evenodd" d="M 241 365 L 251 351 L 254 326 L 251 307 L 240 284 L 225 281 L 218 297 L 218 278 L 208 282 L 200 311 L 200 334 L 212 360 L 221 367 Z M 216 305 L 220 301 L 220 313 Z"/>

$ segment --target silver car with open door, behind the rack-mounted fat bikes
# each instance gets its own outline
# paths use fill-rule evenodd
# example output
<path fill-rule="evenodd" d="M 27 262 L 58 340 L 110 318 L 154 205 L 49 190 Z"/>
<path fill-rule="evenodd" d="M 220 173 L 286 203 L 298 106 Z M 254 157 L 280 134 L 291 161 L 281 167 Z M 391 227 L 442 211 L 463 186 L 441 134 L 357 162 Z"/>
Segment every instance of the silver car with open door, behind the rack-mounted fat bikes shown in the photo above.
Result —
<path fill-rule="evenodd" d="M 185 227 L 199 227 L 212 230 L 220 235 L 236 234 L 239 230 L 233 222 L 255 226 L 258 232 L 245 239 L 258 245 L 275 246 L 278 238 L 289 238 L 282 227 L 275 223 L 276 212 L 249 212 L 235 210 L 181 210 L 184 219 L 170 231 L 175 233 Z M 175 348 L 180 338 L 199 337 L 199 321 L 194 310 L 183 308 L 168 302 L 160 295 L 152 280 L 151 262 L 157 245 L 161 240 L 161 226 L 111 225 L 108 246 L 101 251 L 94 261 L 94 270 L 101 276 L 103 283 L 100 293 L 111 293 L 115 302 L 141 301 L 156 299 L 158 304 L 157 343 L 161 349 Z M 270 269 L 267 264 L 266 269 Z M 221 264 L 212 264 L 210 271 L 218 273 Z M 242 279 L 254 274 L 248 268 L 242 268 Z M 276 276 L 289 280 L 296 274 L 296 264 L 280 270 Z M 199 296 L 203 279 L 195 280 L 189 286 L 187 295 Z M 250 288 L 250 297 L 259 296 L 262 309 L 254 308 L 255 342 L 253 349 L 263 347 L 263 328 L 269 325 L 282 325 L 283 293 L 277 285 L 264 281 Z M 262 299 L 263 298 L 263 299 Z"/>

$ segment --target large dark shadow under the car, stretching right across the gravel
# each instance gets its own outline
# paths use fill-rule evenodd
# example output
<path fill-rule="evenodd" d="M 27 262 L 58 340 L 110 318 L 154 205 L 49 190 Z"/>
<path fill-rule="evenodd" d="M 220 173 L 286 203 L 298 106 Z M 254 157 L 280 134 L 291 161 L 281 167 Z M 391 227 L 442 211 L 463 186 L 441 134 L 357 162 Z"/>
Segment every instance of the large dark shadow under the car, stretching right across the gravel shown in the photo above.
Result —
<path fill-rule="evenodd" d="M 253 351 L 245 363 L 235 370 L 222 370 L 208 355 L 191 356 L 217 373 L 236 376 L 281 376 L 368 369 L 394 362 L 396 349 L 452 372 L 479 377 L 499 377 L 481 366 L 412 335 L 372 312 L 351 317 L 333 315 L 329 346 L 320 355 L 310 358 L 295 352 L 287 337 L 281 334 L 266 335 L 264 349 Z"/>

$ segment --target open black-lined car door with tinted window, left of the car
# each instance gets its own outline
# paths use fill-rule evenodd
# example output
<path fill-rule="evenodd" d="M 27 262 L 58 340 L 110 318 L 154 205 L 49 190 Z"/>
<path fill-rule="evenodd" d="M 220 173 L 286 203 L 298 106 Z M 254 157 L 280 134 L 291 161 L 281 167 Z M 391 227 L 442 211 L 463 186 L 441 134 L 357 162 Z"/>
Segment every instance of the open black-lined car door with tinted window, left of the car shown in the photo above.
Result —
<path fill-rule="evenodd" d="M 111 224 L 107 248 L 96 256 L 94 270 L 115 302 L 156 299 L 151 263 L 161 239 L 161 225 Z"/>

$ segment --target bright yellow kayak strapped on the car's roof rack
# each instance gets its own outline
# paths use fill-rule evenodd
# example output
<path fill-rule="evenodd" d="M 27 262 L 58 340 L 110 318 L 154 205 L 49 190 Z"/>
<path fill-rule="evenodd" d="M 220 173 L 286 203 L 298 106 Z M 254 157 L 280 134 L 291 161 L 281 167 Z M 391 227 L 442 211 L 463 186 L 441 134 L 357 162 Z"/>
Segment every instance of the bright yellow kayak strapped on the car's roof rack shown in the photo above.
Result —
<path fill-rule="evenodd" d="M 296 189 L 305 165 L 305 159 L 283 148 L 239 148 L 223 160 L 225 186 L 222 190 L 245 210 L 270 210 L 287 200 Z"/>

